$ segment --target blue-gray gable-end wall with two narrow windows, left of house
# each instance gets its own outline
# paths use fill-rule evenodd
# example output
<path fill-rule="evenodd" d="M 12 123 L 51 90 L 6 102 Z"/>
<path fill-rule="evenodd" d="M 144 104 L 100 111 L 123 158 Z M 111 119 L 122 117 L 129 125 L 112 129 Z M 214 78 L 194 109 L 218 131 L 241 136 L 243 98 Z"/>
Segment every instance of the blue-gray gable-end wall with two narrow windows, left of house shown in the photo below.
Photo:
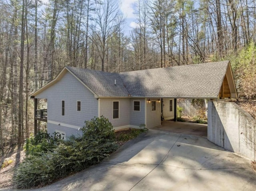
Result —
<path fill-rule="evenodd" d="M 48 132 L 54 132 L 54 124 L 58 128 L 67 130 L 68 125 L 84 126 L 85 120 L 98 116 L 98 100 L 72 74 L 66 73 L 60 81 L 40 93 L 36 98 L 47 98 Z M 62 116 L 62 100 L 65 100 L 65 115 Z M 81 101 L 81 111 L 77 111 L 77 101 Z M 67 125 L 68 124 L 68 125 Z M 60 129 L 60 130 L 61 130 Z M 77 134 L 75 128 L 69 128 L 68 134 Z"/>

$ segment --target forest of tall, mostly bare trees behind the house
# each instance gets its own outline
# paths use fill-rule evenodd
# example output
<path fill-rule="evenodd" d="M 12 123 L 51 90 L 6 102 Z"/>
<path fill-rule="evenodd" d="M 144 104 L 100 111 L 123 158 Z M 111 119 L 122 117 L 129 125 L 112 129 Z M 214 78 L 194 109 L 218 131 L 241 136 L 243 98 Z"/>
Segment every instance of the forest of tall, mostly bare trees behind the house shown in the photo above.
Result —
<path fill-rule="evenodd" d="M 134 6 L 128 34 L 116 0 L 0 0 L 2 154 L 33 132 L 29 95 L 66 65 L 124 72 L 230 60 L 239 98 L 256 99 L 256 0 Z"/>

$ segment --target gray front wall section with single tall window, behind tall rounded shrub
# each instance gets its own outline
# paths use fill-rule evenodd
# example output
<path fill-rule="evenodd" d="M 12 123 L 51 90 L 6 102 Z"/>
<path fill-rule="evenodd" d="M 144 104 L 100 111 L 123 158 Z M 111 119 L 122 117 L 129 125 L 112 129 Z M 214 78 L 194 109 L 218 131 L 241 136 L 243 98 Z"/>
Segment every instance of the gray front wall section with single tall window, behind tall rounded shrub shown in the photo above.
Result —
<path fill-rule="evenodd" d="M 113 101 L 119 101 L 118 119 L 113 119 Z M 102 115 L 108 118 L 108 120 L 112 123 L 114 128 L 130 125 L 130 99 L 100 98 L 100 116 Z"/>

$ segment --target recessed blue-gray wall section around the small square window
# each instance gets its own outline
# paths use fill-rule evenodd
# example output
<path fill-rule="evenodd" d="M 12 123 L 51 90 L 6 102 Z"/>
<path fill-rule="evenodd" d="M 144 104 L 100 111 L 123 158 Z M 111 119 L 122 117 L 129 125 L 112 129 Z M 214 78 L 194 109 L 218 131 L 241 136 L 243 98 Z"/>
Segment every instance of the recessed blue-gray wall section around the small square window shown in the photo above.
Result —
<path fill-rule="evenodd" d="M 133 102 L 140 101 L 140 111 L 133 110 Z M 145 124 L 145 98 L 130 98 L 130 125 Z"/>

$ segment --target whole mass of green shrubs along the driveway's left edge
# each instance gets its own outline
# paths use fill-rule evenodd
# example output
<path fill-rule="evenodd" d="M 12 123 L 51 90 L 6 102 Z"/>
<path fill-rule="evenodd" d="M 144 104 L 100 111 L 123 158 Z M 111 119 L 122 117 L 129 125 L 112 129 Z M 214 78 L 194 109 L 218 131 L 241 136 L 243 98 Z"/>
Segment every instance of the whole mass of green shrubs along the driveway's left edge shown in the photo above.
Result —
<path fill-rule="evenodd" d="M 37 152 L 30 150 L 33 155 L 27 155 L 24 162 L 16 169 L 14 176 L 16 187 L 27 189 L 48 185 L 56 179 L 99 163 L 118 148 L 113 126 L 103 116 L 86 121 L 82 132 L 82 137 L 71 136 L 67 141 L 58 142 L 58 139 L 50 138 L 47 143 L 55 147 L 46 151 L 44 150 L 48 148 L 47 144 L 45 145 L 46 137 L 36 138 L 37 145 L 34 145 L 36 141 L 31 139 L 32 141 L 28 142 L 30 144 L 28 150 L 35 149 L 39 145 L 38 150 L 42 152 L 37 155 L 35 154 Z M 58 144 L 55 144 L 56 141 Z"/>

